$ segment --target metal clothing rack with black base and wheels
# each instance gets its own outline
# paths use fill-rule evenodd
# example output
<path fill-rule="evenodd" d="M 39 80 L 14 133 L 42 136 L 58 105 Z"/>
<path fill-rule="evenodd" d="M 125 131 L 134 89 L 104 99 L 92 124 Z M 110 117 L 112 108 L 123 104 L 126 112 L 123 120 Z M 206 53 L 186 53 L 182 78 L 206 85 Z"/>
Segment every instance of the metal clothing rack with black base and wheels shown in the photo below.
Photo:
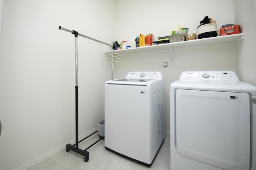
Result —
<path fill-rule="evenodd" d="M 82 156 L 84 156 L 84 161 L 85 162 L 88 162 L 89 160 L 89 152 L 86 151 L 88 150 L 90 147 L 92 147 L 94 144 L 96 144 L 97 142 L 99 142 L 100 140 L 104 139 L 104 136 L 100 136 L 100 139 L 97 140 L 96 142 L 94 142 L 92 145 L 90 145 L 88 148 L 86 148 L 85 150 L 82 150 L 78 147 L 78 143 L 82 142 L 83 140 L 85 140 L 86 138 L 92 136 L 93 134 L 95 134 L 96 132 L 98 132 L 98 130 L 96 132 L 93 132 L 92 134 L 90 134 L 89 136 L 85 137 L 84 139 L 78 141 L 78 69 L 77 69 L 77 65 L 78 65 L 78 60 L 77 60 L 77 38 L 78 36 L 82 36 L 84 38 L 88 38 L 90 40 L 94 40 L 96 42 L 99 42 L 99 43 L 103 43 L 105 45 L 108 45 L 110 47 L 112 47 L 112 53 L 113 53 L 113 46 L 114 45 L 110 45 L 108 43 L 105 43 L 105 42 L 102 42 L 100 40 L 96 40 L 94 38 L 91 38 L 91 37 L 88 37 L 88 36 L 85 36 L 83 34 L 80 34 L 74 30 L 68 30 L 66 28 L 63 28 L 61 26 L 59 26 L 59 30 L 64 30 L 64 31 L 67 31 L 67 32 L 70 32 L 72 34 L 74 34 L 75 36 L 75 58 L 76 58 L 76 86 L 75 86 L 75 89 L 76 89 L 76 144 L 66 144 L 66 152 L 69 152 L 70 150 L 72 150 L 73 152 L 76 152 Z M 112 57 L 112 59 L 114 60 L 114 58 Z M 113 79 L 113 63 L 112 63 L 112 79 Z"/>

